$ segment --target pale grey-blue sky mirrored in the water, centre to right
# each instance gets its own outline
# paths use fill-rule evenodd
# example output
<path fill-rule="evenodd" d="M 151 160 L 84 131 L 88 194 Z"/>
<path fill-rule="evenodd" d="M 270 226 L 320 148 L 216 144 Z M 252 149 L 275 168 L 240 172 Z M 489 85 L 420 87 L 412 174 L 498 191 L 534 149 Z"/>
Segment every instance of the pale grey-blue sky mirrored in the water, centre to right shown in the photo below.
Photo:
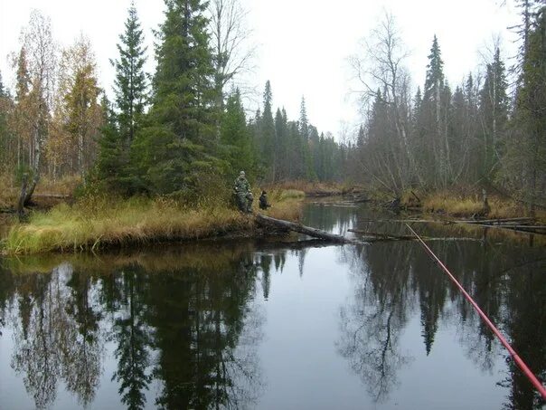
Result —
<path fill-rule="evenodd" d="M 338 260 L 339 248 L 309 250 L 303 276 L 297 255 L 273 273 L 267 323 L 259 356 L 267 379 L 259 408 L 500 408 L 506 392 L 495 386 L 504 361 L 484 374 L 459 343 L 457 326 L 439 320 L 427 357 L 420 312 L 414 309 L 401 330 L 400 350 L 410 358 L 400 367 L 399 384 L 382 403 L 374 403 L 349 363 L 340 357 L 340 308 L 354 303 L 353 276 Z M 461 394 L 464 392 L 464 394 Z"/>

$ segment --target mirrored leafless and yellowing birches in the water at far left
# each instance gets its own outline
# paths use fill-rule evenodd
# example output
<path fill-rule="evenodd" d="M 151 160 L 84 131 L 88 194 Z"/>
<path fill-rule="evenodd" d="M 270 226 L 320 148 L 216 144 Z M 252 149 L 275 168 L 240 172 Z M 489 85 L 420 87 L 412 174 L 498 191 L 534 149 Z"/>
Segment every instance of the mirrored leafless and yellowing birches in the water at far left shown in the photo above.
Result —
<path fill-rule="evenodd" d="M 52 404 L 60 379 L 83 404 L 91 401 L 97 387 L 99 338 L 89 306 L 89 278 L 87 289 L 71 291 L 66 285 L 77 276 L 61 265 L 50 274 L 17 280 L 19 320 L 14 324 L 12 366 L 23 375 L 38 408 Z"/>

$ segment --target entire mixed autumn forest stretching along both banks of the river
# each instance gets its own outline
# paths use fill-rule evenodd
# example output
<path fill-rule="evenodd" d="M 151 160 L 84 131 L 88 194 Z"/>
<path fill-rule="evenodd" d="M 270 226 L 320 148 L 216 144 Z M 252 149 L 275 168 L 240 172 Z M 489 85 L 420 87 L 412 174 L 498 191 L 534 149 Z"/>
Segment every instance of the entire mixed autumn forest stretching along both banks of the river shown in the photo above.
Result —
<path fill-rule="evenodd" d="M 362 86 L 362 123 L 349 138 L 316 129 L 304 97 L 299 117 L 288 119 L 269 81 L 260 109 L 249 112 L 234 81 L 252 52 L 241 48 L 249 34 L 238 0 L 165 0 L 153 51 L 133 4 L 112 56 L 113 84 L 99 83 L 89 38 L 61 48 L 50 18 L 33 11 L 12 55 L 14 87 L 0 77 L 1 179 L 14 187 L 28 180 L 25 205 L 41 181 L 66 179 L 80 193 L 194 203 L 245 170 L 260 185 L 344 182 L 394 197 L 485 186 L 533 210 L 546 199 L 546 8 L 540 0 L 518 6 L 515 63 L 496 44 L 485 70 L 449 84 L 431 33 L 417 88 L 395 18 L 385 14 L 349 59 Z M 155 72 L 145 72 L 147 59 Z"/>

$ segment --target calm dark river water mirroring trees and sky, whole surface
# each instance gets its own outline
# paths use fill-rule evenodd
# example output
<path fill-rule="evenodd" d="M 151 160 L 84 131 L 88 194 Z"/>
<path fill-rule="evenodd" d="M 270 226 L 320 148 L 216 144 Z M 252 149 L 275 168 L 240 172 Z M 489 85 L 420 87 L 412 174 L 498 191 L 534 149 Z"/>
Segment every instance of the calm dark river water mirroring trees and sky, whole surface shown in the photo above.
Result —
<path fill-rule="evenodd" d="M 383 216 L 309 205 L 306 224 L 403 232 Z M 430 245 L 544 379 L 545 248 L 417 229 L 467 238 Z M 1 409 L 541 408 L 418 243 L 5 259 L 0 332 Z"/>

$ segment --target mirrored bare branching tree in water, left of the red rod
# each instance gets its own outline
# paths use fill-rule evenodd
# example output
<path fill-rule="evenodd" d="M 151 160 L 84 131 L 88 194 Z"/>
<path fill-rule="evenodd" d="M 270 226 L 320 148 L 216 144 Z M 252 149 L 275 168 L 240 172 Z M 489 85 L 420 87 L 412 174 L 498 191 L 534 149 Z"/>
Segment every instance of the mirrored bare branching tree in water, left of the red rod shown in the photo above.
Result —
<path fill-rule="evenodd" d="M 404 250 L 403 243 L 364 249 L 367 263 L 355 272 L 353 304 L 341 310 L 338 349 L 377 401 L 389 395 L 398 370 L 410 360 L 400 351 L 400 331 L 410 310 Z"/>

